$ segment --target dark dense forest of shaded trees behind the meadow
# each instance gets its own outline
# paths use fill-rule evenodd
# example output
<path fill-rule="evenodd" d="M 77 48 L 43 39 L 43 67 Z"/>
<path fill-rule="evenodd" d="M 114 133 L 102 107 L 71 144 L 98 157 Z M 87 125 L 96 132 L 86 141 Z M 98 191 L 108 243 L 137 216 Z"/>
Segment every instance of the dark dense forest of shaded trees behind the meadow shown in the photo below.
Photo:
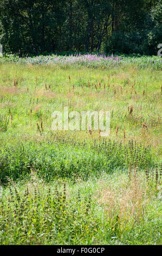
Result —
<path fill-rule="evenodd" d="M 161 0 L 0 0 L 0 42 L 19 56 L 56 52 L 157 55 Z"/>

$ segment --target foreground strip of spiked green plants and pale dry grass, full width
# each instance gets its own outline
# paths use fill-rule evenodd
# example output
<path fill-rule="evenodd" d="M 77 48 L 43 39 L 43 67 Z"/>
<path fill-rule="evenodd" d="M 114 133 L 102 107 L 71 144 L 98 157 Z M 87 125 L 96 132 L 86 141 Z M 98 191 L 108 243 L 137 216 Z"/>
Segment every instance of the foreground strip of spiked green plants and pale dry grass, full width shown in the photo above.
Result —
<path fill-rule="evenodd" d="M 27 184 L 3 189 L 0 244 L 160 245 L 157 191 L 142 173 L 131 181 L 114 173 L 73 185 L 47 185 L 32 174 Z"/>

